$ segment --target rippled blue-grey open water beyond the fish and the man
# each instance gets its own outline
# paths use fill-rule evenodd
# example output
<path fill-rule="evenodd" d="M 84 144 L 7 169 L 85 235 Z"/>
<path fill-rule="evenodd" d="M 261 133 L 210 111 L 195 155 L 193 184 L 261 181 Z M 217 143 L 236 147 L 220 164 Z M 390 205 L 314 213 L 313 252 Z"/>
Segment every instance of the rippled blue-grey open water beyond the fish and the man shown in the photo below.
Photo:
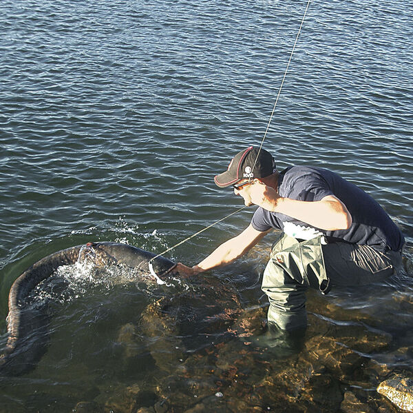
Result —
<path fill-rule="evenodd" d="M 260 143 L 304 3 L 3 1 L 0 314 L 45 252 L 165 250 L 242 204 L 213 175 Z M 321 165 L 368 190 L 411 250 L 410 6 L 311 3 L 264 146 L 279 168 Z M 252 213 L 171 254 L 197 261 Z"/>

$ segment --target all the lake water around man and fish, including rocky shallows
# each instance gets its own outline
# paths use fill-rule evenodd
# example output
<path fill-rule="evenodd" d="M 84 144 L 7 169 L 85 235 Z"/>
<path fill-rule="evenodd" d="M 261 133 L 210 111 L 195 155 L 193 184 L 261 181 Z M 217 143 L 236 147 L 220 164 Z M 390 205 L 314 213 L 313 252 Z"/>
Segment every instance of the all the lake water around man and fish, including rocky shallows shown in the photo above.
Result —
<path fill-rule="evenodd" d="M 88 241 L 162 252 L 241 205 L 231 190 L 215 187 L 213 175 L 240 148 L 260 143 L 305 6 L 3 1 L 1 332 L 10 286 L 43 256 Z M 360 294 L 308 296 L 313 314 L 298 357 L 310 363 L 312 345 L 348 343 L 347 326 L 361 339 L 365 325 L 391 337 L 369 350 L 370 363 L 363 359 L 350 374 L 331 365 L 322 372 L 312 361 L 308 376 L 294 358 L 228 333 L 240 309 L 266 303 L 260 274 L 268 236 L 236 265 L 189 281 L 189 290 L 91 285 L 77 299 L 58 300 L 37 369 L 1 384 L 3 411 L 71 411 L 83 401 L 121 412 L 165 399 L 162 406 L 175 412 L 196 403 L 229 412 L 301 411 L 304 401 L 307 411 L 335 411 L 348 389 L 379 409 L 385 402 L 374 389 L 385 369 L 407 368 L 413 359 L 412 6 L 311 3 L 264 145 L 279 168 L 321 165 L 357 183 L 406 236 L 399 278 Z M 243 210 L 167 255 L 197 263 L 252 213 Z M 169 300 L 167 310 L 153 310 L 159 299 Z M 165 334 L 145 324 L 151 310 Z M 162 370 L 157 354 L 175 347 Z M 286 372 L 306 385 L 282 382 Z M 320 396 L 326 385 L 337 390 L 330 404 Z"/>

